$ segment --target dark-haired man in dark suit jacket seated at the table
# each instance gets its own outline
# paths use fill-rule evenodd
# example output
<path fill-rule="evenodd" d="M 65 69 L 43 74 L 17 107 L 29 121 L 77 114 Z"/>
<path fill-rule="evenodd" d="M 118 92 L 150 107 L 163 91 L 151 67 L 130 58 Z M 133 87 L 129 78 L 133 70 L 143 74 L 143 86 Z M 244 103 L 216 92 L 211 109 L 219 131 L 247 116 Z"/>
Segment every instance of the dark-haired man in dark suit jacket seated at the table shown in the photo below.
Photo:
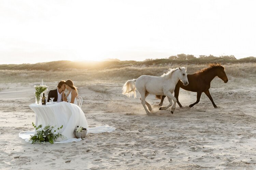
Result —
<path fill-rule="evenodd" d="M 47 102 L 50 101 L 51 97 L 54 97 L 53 99 L 54 102 L 62 102 L 62 91 L 65 91 L 66 89 L 65 81 L 64 80 L 60 81 L 57 87 L 58 87 L 57 89 L 49 91 Z M 65 93 L 64 93 L 64 97 L 65 97 Z"/>

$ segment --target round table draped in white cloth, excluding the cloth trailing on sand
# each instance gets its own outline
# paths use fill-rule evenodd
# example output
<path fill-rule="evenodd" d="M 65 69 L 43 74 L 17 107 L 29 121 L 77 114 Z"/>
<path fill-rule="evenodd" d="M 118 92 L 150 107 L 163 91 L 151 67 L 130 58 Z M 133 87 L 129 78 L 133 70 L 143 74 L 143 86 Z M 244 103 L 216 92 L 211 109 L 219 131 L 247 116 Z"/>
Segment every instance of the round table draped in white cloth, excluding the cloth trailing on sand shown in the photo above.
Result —
<path fill-rule="evenodd" d="M 74 130 L 77 126 L 83 126 L 88 129 L 88 124 L 82 109 L 72 103 L 59 102 L 46 105 L 30 104 L 29 107 L 35 112 L 35 125 L 42 124 L 42 128 L 46 125 L 55 126 L 56 133 L 63 135 L 56 141 L 65 141 L 75 138 Z M 63 128 L 57 130 L 61 125 Z M 88 133 L 88 131 L 87 131 Z"/>

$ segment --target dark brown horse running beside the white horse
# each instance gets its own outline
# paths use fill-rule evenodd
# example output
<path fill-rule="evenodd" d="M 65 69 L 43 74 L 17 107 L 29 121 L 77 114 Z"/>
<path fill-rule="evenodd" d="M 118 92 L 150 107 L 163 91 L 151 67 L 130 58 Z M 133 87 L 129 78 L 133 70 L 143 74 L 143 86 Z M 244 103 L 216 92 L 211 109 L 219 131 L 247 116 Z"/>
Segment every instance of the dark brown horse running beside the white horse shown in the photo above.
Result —
<path fill-rule="evenodd" d="M 197 101 L 193 104 L 190 104 L 189 107 L 193 107 L 200 101 L 202 92 L 211 100 L 214 108 L 217 108 L 216 104 L 213 102 L 212 96 L 209 92 L 209 88 L 211 86 L 211 81 L 218 76 L 220 79 L 224 81 L 224 83 L 228 82 L 227 75 L 225 73 L 225 68 L 221 64 L 209 64 L 209 67 L 199 70 L 195 74 L 188 74 L 187 79 L 189 84 L 184 86 L 183 83 L 179 80 L 175 86 L 174 97 L 177 99 L 177 103 L 180 107 L 182 107 L 179 102 L 179 91 L 180 87 L 187 91 L 197 92 Z M 161 99 L 159 105 L 163 104 L 163 99 L 166 96 L 156 96 L 157 99 Z"/>

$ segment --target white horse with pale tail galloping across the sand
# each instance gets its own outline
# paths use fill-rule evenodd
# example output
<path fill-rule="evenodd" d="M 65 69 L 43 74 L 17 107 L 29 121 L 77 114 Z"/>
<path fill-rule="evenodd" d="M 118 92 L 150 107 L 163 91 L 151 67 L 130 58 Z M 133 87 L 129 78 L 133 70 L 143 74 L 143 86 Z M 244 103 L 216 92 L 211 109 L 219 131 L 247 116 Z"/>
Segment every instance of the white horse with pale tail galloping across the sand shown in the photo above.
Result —
<path fill-rule="evenodd" d="M 146 105 L 150 111 L 152 111 L 151 105 L 145 101 L 148 94 L 153 95 L 165 95 L 169 100 L 169 105 L 160 107 L 159 110 L 166 110 L 168 107 L 171 107 L 171 113 L 173 114 L 176 106 L 176 98 L 172 95 L 175 86 L 179 80 L 186 86 L 188 85 L 187 80 L 187 68 L 176 68 L 169 69 L 167 73 L 164 73 L 160 77 L 151 76 L 151 75 L 141 75 L 138 79 L 128 80 L 123 86 L 123 95 L 128 97 L 134 95 L 136 98 L 136 89 L 140 93 L 141 104 L 143 105 L 147 115 L 150 115 Z"/>

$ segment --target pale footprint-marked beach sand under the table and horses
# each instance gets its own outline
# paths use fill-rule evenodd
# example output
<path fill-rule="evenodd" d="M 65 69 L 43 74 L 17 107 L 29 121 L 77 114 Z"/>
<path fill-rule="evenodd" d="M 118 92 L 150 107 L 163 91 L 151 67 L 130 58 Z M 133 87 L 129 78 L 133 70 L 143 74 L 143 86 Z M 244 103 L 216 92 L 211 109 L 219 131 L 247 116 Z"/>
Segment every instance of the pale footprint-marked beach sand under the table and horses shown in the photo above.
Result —
<path fill-rule="evenodd" d="M 224 84 L 224 83 L 223 83 Z M 32 130 L 33 83 L 0 84 L 0 169 L 256 169 L 256 86 L 232 83 L 211 88 L 193 108 L 196 93 L 181 90 L 174 114 L 146 115 L 138 98 L 122 95 L 122 84 L 103 93 L 79 88 L 90 127 L 108 124 L 111 133 L 89 134 L 80 142 L 34 144 L 18 137 Z M 47 83 L 53 89 L 56 82 Z M 163 105 L 167 105 L 167 99 Z"/>

